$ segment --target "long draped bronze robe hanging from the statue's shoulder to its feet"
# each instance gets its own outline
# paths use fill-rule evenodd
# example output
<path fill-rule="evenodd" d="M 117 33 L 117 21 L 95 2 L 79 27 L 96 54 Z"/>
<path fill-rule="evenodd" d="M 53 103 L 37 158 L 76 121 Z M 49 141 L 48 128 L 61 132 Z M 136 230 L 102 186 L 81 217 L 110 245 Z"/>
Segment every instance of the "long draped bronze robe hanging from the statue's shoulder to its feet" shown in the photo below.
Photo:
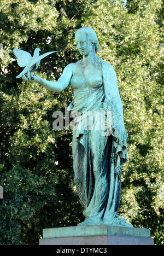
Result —
<path fill-rule="evenodd" d="M 117 125 L 125 129 L 116 75 L 107 62 L 102 62 L 102 74 L 103 85 L 90 91 L 81 89 L 68 107 L 74 117 L 74 181 L 85 219 L 98 225 L 112 224 L 117 217 L 122 166 L 127 161 L 126 141 L 119 141 L 115 135 Z M 112 112 L 106 136 L 102 136 L 102 127 L 97 129 L 98 121 L 92 115 L 95 112 L 99 117 L 102 112 Z"/>

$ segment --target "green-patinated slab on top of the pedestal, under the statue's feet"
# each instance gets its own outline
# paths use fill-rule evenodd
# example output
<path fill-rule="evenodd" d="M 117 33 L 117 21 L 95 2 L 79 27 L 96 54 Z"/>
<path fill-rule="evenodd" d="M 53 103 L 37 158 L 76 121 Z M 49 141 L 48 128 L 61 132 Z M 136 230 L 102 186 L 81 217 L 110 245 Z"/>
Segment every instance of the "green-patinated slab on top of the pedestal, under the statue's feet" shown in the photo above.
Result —
<path fill-rule="evenodd" d="M 127 228 L 122 226 L 71 226 L 65 228 L 43 229 L 43 238 L 76 236 L 133 236 L 150 238 L 150 229 Z"/>

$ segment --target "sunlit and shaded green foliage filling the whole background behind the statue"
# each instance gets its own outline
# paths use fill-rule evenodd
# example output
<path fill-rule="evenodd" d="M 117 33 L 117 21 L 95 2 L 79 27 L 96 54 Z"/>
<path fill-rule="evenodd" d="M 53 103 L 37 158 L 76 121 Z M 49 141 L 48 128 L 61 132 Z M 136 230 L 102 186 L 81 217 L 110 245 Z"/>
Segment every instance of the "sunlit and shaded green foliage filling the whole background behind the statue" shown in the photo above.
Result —
<path fill-rule="evenodd" d="M 161 0 L 3 0 L 0 6 L 0 244 L 36 245 L 43 228 L 77 225 L 82 209 L 74 191 L 72 131 L 52 130 L 52 113 L 65 112 L 71 88 L 56 94 L 15 79 L 13 48 L 61 50 L 38 75 L 55 80 L 79 59 L 74 32 L 92 27 L 98 56 L 118 76 L 128 137 L 119 215 L 150 228 L 163 243 L 163 30 Z"/>

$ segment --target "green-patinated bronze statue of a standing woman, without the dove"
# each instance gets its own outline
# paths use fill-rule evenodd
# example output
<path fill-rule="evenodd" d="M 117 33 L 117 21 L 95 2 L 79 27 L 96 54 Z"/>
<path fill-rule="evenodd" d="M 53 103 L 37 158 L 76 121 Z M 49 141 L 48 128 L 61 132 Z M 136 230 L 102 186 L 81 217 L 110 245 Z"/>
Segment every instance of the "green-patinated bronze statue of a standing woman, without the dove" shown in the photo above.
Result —
<path fill-rule="evenodd" d="M 98 39 L 90 27 L 75 33 L 75 42 L 83 59 L 69 64 L 57 82 L 38 75 L 22 78 L 34 80 L 45 88 L 61 92 L 69 84 L 73 90 L 71 112 L 112 112 L 112 134 L 102 136 L 93 127 L 73 131 L 73 169 L 77 192 L 84 207 L 85 220 L 78 225 L 130 226 L 117 216 L 120 203 L 122 166 L 127 161 L 122 103 L 113 67 L 96 55 Z"/>

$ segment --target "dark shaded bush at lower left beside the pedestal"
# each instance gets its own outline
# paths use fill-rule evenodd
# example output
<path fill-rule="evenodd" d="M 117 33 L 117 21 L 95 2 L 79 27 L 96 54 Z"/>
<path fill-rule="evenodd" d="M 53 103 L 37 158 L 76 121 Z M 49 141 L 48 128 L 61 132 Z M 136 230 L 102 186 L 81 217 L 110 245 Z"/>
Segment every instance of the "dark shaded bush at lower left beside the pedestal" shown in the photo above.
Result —
<path fill-rule="evenodd" d="M 36 245 L 43 228 L 65 223 L 75 225 L 79 214 L 74 208 L 76 198 L 68 186 L 69 179 L 65 170 L 43 177 L 19 165 L 3 173 L 0 244 Z M 63 194 L 63 186 L 66 194 Z M 74 214 L 69 218 L 73 210 Z"/>

